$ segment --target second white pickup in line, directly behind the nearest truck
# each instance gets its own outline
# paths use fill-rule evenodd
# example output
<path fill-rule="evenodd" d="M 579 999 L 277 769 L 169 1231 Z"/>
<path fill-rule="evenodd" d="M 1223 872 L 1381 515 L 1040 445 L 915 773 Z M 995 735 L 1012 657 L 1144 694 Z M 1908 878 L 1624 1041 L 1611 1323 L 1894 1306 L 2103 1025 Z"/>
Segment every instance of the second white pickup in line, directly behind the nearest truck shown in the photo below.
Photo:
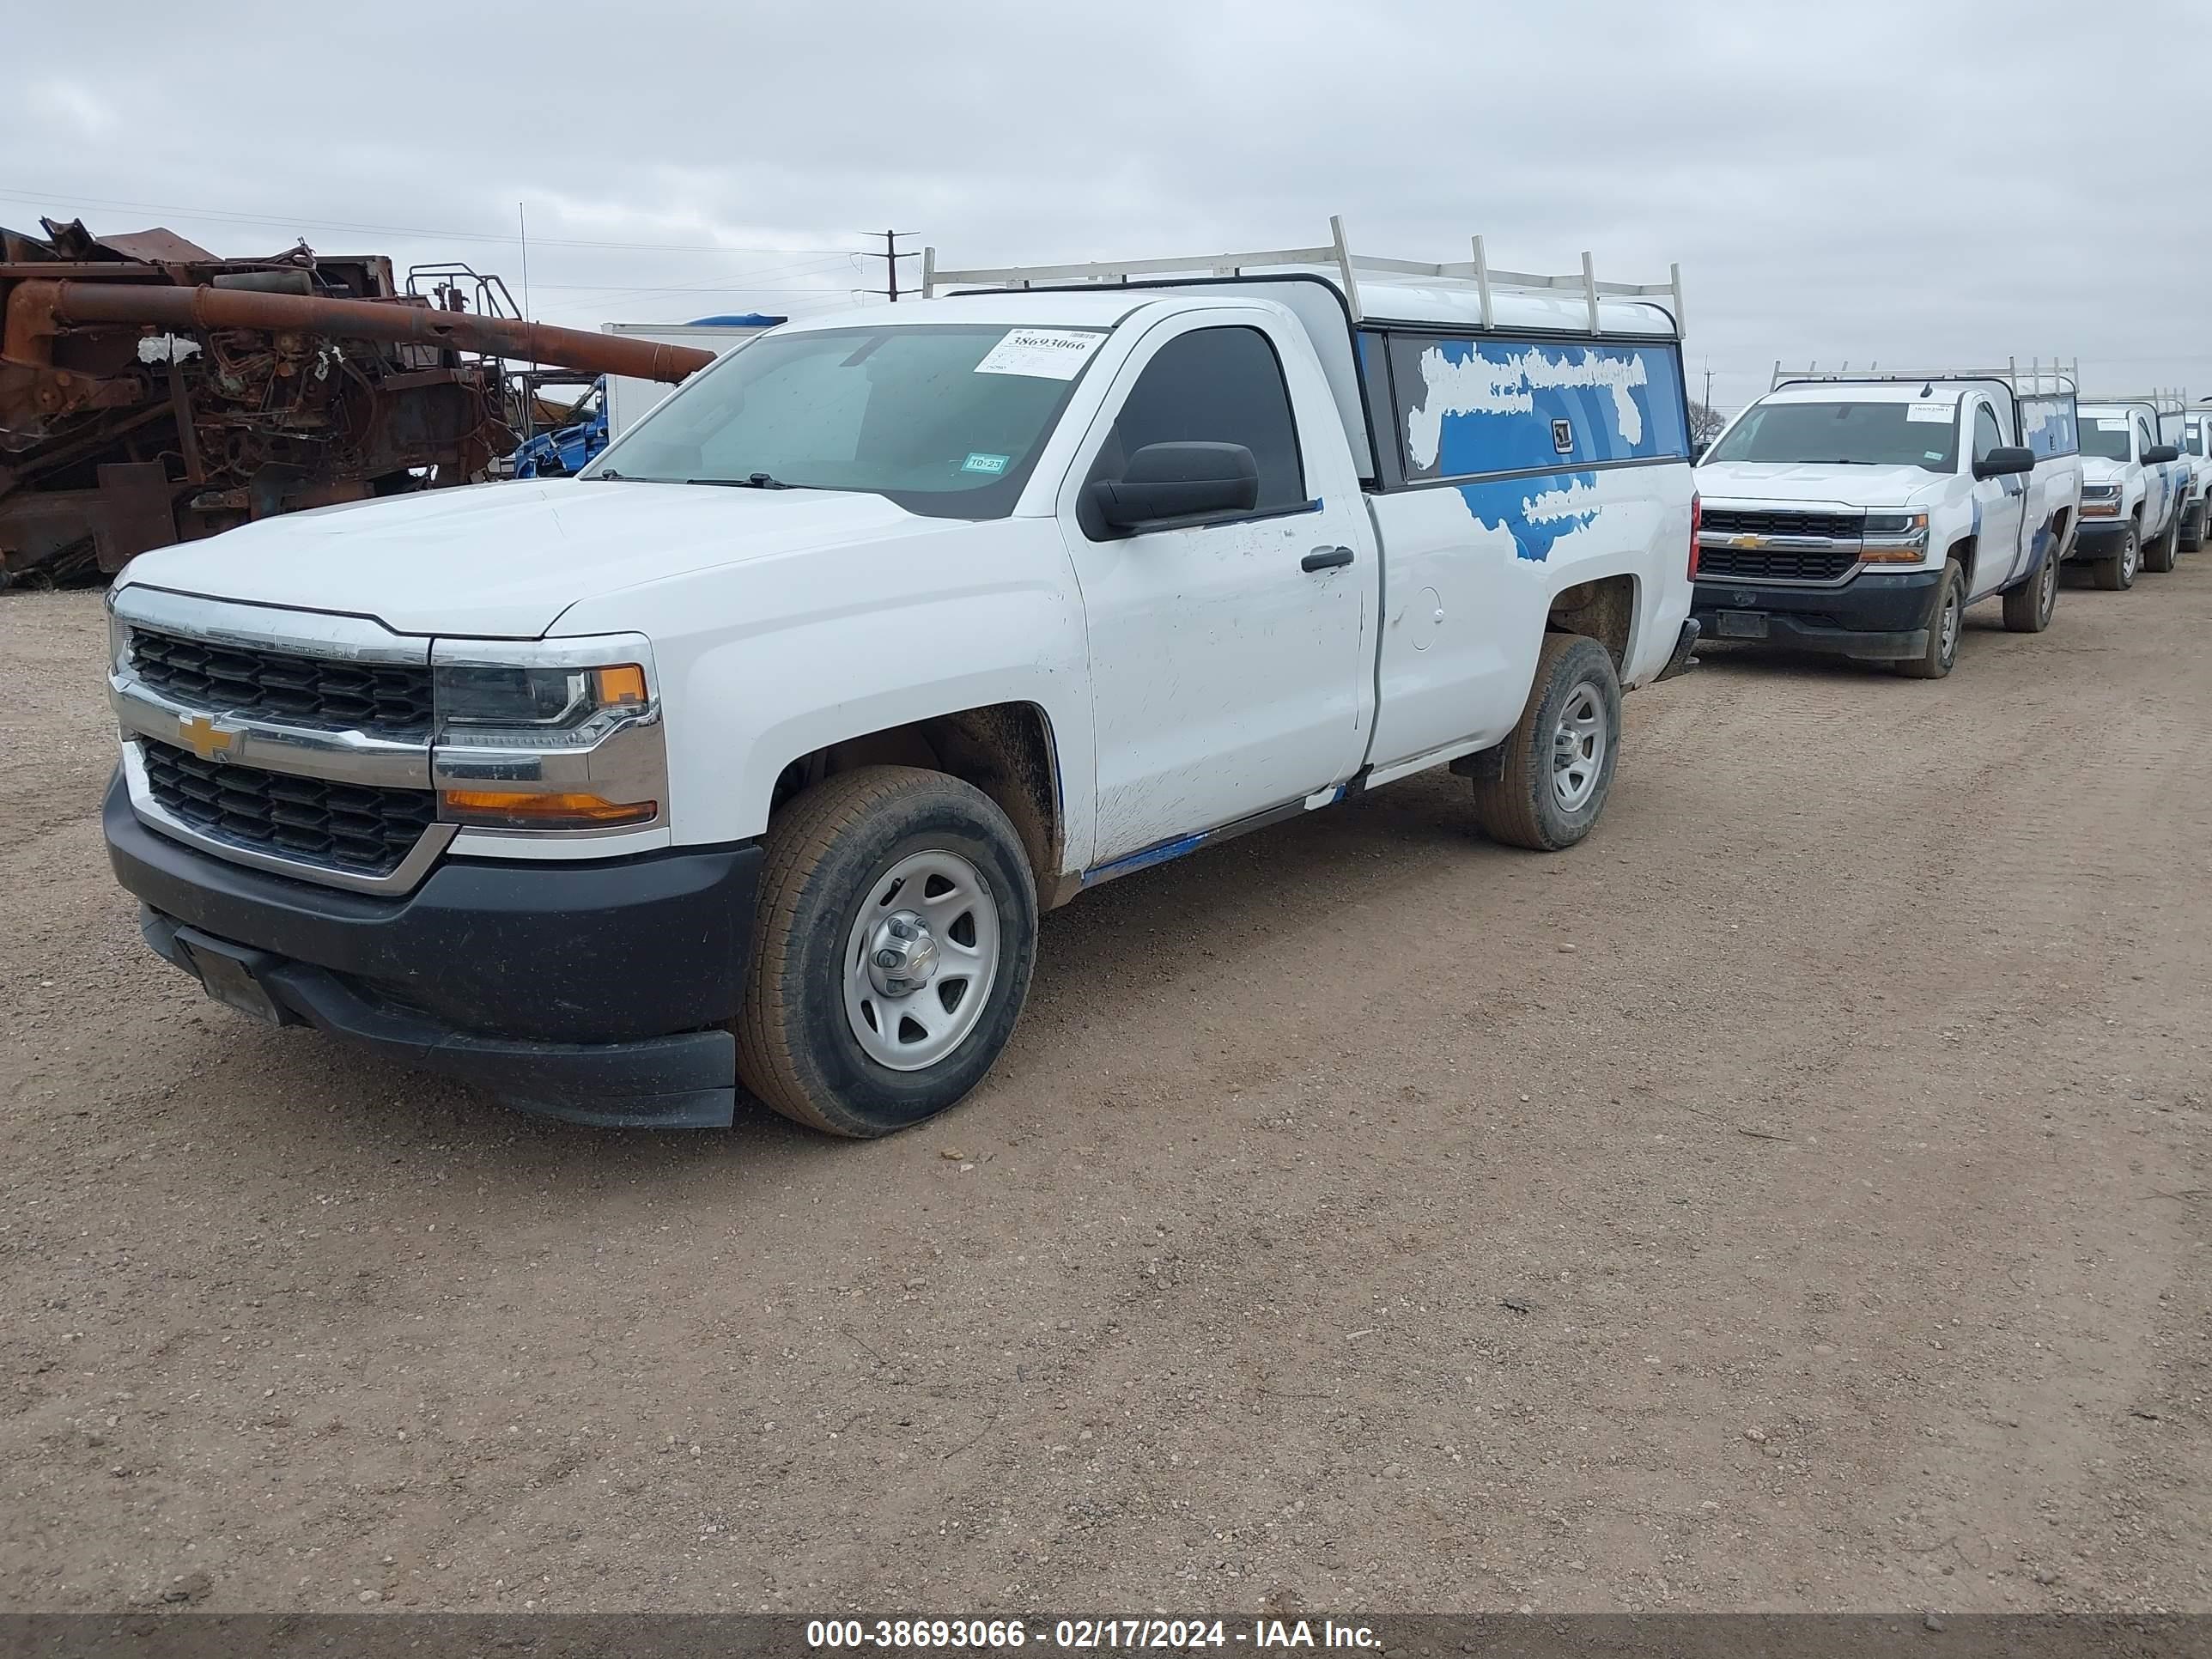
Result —
<path fill-rule="evenodd" d="M 2075 383 L 2042 367 L 1783 372 L 1697 469 L 1697 622 L 1940 679 L 1966 606 L 2042 633 L 2079 526 Z"/>

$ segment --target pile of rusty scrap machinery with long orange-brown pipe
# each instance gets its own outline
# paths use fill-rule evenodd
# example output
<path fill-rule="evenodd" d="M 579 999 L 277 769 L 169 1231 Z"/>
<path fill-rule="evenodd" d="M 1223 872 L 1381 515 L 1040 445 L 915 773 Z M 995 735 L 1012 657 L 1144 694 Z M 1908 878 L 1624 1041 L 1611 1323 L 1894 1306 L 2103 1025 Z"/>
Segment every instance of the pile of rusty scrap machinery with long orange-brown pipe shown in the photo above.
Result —
<path fill-rule="evenodd" d="M 0 586 L 80 582 L 270 513 L 467 484 L 515 445 L 507 361 L 681 380 L 710 352 L 398 292 L 305 243 L 0 228 Z"/>

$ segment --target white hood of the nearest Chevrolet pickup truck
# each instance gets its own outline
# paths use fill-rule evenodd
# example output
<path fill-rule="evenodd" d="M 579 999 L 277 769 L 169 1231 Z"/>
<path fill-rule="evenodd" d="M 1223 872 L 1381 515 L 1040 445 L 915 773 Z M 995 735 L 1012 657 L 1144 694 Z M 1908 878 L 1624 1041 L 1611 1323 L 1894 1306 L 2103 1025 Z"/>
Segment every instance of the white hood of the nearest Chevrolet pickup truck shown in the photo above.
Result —
<path fill-rule="evenodd" d="M 960 524 L 883 495 L 551 478 L 265 518 L 142 553 L 124 580 L 398 633 L 535 639 L 580 599 L 641 582 Z"/>

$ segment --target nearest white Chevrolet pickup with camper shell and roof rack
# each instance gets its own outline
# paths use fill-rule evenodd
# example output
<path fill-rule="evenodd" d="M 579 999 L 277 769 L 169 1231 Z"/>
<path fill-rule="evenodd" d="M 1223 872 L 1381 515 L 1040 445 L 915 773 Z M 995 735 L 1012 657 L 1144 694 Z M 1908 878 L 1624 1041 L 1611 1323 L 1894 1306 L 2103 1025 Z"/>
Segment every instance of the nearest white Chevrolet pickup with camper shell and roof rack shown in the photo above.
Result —
<path fill-rule="evenodd" d="M 153 949 L 526 1108 L 880 1135 L 1102 880 L 1436 765 L 1498 841 L 1590 832 L 1697 639 L 1679 279 L 1338 232 L 962 283 L 757 338 L 577 478 L 133 562 Z"/>

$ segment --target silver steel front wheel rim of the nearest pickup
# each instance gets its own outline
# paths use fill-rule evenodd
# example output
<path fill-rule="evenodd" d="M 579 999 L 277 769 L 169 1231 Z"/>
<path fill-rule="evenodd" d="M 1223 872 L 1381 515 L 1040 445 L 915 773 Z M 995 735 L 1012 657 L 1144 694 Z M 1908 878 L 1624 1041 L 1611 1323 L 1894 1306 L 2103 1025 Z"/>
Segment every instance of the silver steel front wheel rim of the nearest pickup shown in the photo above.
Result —
<path fill-rule="evenodd" d="M 998 940 L 998 900 L 960 854 L 916 852 L 883 872 L 845 931 L 845 1022 L 860 1053 L 889 1071 L 951 1055 L 991 1002 Z"/>

